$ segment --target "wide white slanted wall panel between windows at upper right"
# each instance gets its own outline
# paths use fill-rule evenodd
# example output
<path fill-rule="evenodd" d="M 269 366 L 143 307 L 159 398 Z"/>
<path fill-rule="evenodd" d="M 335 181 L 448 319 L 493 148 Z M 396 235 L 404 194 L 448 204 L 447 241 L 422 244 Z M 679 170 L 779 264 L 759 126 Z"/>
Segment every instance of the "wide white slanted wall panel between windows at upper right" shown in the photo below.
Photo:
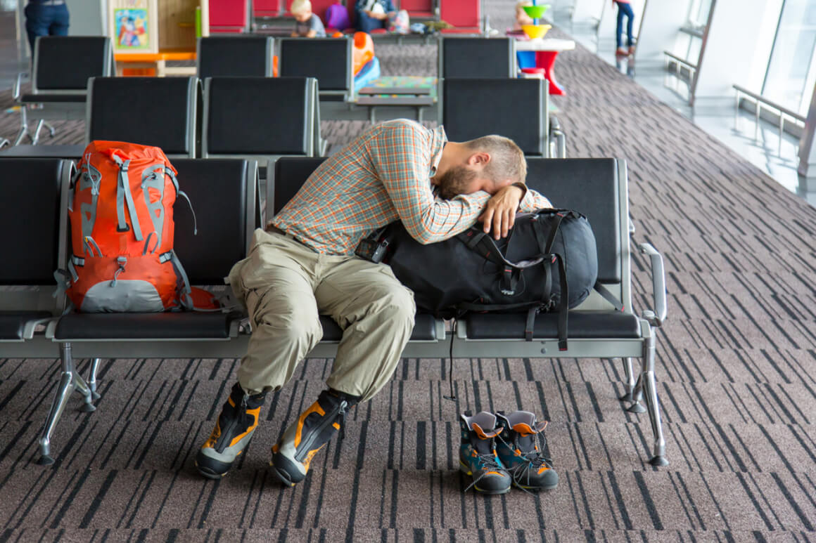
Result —
<path fill-rule="evenodd" d="M 759 91 L 782 0 L 717 0 L 699 68 L 696 99 L 733 96 L 732 85 Z"/>

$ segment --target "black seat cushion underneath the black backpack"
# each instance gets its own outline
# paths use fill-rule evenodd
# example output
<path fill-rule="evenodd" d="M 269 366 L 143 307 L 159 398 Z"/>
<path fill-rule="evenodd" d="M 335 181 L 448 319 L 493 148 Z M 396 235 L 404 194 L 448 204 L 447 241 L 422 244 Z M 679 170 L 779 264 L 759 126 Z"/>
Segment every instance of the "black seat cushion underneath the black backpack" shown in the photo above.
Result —
<path fill-rule="evenodd" d="M 526 313 L 479 313 L 467 317 L 468 339 L 524 339 Z M 619 311 L 570 311 L 570 339 L 640 338 L 641 327 L 634 315 Z M 535 317 L 533 338 L 558 338 L 558 313 Z"/>

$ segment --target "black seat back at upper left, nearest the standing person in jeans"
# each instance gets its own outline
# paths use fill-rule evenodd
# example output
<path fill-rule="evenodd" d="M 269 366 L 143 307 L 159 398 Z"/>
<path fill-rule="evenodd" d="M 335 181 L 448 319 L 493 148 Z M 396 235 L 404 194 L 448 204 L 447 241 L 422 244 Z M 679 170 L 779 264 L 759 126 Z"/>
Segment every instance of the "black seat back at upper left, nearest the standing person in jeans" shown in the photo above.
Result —
<path fill-rule="evenodd" d="M 97 36 L 42 36 L 34 42 L 32 92 L 84 95 L 90 77 L 111 75 L 113 46 Z"/>

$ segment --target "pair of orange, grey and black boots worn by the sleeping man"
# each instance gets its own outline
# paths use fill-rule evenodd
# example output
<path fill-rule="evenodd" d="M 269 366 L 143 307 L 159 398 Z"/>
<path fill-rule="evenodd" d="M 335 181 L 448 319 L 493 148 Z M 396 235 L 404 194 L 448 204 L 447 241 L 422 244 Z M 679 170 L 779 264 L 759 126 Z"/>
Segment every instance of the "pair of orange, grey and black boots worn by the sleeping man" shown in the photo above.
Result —
<path fill-rule="evenodd" d="M 210 479 L 227 475 L 258 426 L 260 408 L 266 393 L 249 395 L 235 383 L 221 409 L 210 438 L 198 450 L 196 467 Z M 357 404 L 357 396 L 338 391 L 322 391 L 317 401 L 283 432 L 272 448 L 273 474 L 287 486 L 295 486 L 308 472 L 309 463 L 338 431 L 343 432 L 348 409 Z"/>

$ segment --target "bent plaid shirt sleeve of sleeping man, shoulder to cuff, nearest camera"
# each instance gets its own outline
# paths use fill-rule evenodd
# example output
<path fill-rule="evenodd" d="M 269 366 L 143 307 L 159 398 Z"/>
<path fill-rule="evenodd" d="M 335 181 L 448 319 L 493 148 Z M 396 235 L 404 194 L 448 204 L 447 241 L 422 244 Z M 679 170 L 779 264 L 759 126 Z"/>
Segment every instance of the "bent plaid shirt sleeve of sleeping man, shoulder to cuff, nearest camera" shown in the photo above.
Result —
<path fill-rule="evenodd" d="M 421 126 L 388 123 L 369 144 L 372 165 L 406 230 L 419 243 L 446 240 L 476 223 L 490 199 L 487 192 L 443 200 L 428 179 L 431 148 Z"/>

